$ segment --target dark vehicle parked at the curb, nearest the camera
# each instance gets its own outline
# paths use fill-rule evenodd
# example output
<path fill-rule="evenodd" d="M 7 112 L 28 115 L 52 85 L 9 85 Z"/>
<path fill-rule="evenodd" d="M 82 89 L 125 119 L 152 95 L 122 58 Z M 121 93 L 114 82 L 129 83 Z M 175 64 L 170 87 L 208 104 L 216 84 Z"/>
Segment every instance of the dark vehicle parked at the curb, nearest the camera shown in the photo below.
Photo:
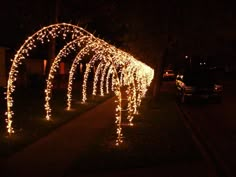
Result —
<path fill-rule="evenodd" d="M 190 99 L 212 99 L 221 102 L 223 85 L 216 67 L 185 68 L 176 77 L 177 96 L 181 103 Z"/>

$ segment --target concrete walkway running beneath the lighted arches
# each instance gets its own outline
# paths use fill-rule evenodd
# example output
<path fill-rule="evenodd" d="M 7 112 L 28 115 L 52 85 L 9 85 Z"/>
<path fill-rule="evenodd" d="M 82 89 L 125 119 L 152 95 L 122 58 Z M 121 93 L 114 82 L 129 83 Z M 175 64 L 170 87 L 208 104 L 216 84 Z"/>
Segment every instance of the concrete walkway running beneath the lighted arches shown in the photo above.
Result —
<path fill-rule="evenodd" d="M 104 109 L 105 108 L 105 109 Z M 104 128 L 114 124 L 114 98 L 14 154 L 1 177 L 60 177 Z M 4 173 L 4 174 L 3 174 Z"/>

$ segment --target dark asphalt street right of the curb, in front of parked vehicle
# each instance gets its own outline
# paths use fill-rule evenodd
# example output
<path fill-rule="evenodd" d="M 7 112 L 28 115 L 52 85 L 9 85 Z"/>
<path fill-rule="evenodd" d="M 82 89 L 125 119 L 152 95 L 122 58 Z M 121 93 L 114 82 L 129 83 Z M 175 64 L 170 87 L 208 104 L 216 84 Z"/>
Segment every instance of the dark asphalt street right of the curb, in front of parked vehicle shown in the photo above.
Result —
<path fill-rule="evenodd" d="M 174 84 L 174 83 L 173 83 Z M 224 84 L 223 101 L 179 105 L 222 176 L 236 176 L 236 81 Z M 220 169 L 219 169 L 220 168 Z"/>

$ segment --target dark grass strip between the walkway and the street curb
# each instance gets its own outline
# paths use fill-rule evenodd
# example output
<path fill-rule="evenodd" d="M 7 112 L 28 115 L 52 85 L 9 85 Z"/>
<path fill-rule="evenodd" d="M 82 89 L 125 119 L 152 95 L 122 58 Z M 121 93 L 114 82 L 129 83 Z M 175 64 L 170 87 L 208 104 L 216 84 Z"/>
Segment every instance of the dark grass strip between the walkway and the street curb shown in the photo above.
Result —
<path fill-rule="evenodd" d="M 157 104 L 145 98 L 134 126 L 122 126 L 124 142 L 115 146 L 115 127 L 103 131 L 94 145 L 68 170 L 73 174 L 142 168 L 201 160 L 175 108 L 175 95 L 162 93 Z"/>

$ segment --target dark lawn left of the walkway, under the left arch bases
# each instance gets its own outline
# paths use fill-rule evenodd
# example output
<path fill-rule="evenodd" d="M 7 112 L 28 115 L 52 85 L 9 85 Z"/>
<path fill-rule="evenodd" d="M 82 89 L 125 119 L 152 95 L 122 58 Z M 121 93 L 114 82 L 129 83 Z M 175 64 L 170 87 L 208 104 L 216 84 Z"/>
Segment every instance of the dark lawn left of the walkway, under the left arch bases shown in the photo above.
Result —
<path fill-rule="evenodd" d="M 72 100 L 72 111 L 66 110 L 66 89 L 56 89 L 52 92 L 51 106 L 52 119 L 45 119 L 44 92 L 39 89 L 17 89 L 14 93 L 13 128 L 15 133 L 9 136 L 6 133 L 6 101 L 1 100 L 0 108 L 0 158 L 6 158 L 23 149 L 28 144 L 47 135 L 69 120 L 78 117 L 113 95 L 89 96 L 88 103 L 81 104 L 81 90 L 75 89 Z"/>

